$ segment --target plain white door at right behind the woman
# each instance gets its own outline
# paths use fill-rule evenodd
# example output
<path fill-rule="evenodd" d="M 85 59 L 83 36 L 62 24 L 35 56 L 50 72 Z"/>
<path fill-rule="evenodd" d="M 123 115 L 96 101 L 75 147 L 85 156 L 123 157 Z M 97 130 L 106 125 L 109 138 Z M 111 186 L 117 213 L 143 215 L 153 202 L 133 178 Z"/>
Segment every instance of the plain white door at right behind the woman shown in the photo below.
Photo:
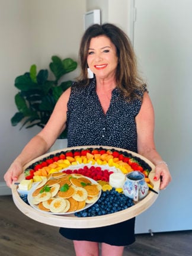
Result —
<path fill-rule="evenodd" d="M 155 142 L 172 182 L 136 233 L 192 229 L 192 1 L 135 0 L 133 46 L 155 108 Z"/>

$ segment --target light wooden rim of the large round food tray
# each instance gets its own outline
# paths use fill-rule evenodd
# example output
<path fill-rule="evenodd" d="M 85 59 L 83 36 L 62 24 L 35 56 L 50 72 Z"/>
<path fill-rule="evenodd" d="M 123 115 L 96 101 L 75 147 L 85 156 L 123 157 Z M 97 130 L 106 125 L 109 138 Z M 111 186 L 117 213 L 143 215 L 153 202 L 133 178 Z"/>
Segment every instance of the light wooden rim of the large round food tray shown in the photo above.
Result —
<path fill-rule="evenodd" d="M 100 146 L 79 146 L 75 148 L 59 149 L 58 151 L 49 152 L 42 156 L 39 156 L 38 158 L 34 159 L 33 161 L 25 165 L 24 169 L 26 169 L 28 166 L 30 166 L 34 162 L 40 161 L 44 157 L 49 156 L 50 154 L 55 154 L 61 151 L 70 151 L 72 149 L 87 149 L 87 148 L 99 148 L 99 147 Z M 102 148 L 112 149 L 111 147 L 108 147 L 108 146 L 102 146 Z M 113 149 L 118 151 L 126 151 L 125 149 L 120 149 L 120 148 L 113 148 Z M 148 159 L 144 158 L 143 156 L 135 152 L 132 152 L 132 151 L 126 151 L 126 152 L 131 153 L 133 156 L 139 157 L 152 168 L 152 171 L 149 174 L 149 179 L 153 184 L 153 189 L 156 191 L 159 191 L 160 181 L 153 181 L 153 177 L 155 174 L 155 166 L 152 164 L 152 162 L 150 162 Z M 23 178 L 24 178 L 24 174 L 21 174 L 18 182 L 21 181 Z M 154 203 L 154 201 L 158 197 L 158 194 L 155 194 L 152 191 L 149 191 L 148 195 L 144 199 L 138 201 L 134 206 L 129 207 L 126 210 L 121 210 L 116 213 L 111 213 L 108 215 L 102 215 L 102 216 L 96 216 L 96 217 L 76 217 L 75 215 L 50 215 L 50 214 L 47 215 L 46 213 L 39 212 L 33 207 L 26 204 L 20 198 L 17 188 L 18 186 L 13 183 L 11 188 L 12 198 L 14 200 L 15 205 L 18 207 L 18 209 L 21 212 L 24 213 L 24 215 L 30 217 L 33 220 L 36 220 L 37 222 L 41 222 L 51 226 L 63 227 L 63 228 L 97 228 L 101 226 L 108 226 L 108 225 L 113 225 L 119 222 L 123 222 L 124 220 L 131 219 L 132 217 L 135 217 L 140 213 L 144 212 Z"/>

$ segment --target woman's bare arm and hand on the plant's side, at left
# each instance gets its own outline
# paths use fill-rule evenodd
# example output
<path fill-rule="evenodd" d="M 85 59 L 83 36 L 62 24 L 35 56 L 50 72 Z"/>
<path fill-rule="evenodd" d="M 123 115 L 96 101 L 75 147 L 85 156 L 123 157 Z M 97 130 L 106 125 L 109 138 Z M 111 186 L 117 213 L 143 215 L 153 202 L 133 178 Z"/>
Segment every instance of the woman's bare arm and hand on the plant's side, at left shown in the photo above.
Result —
<path fill-rule="evenodd" d="M 23 171 L 23 166 L 37 156 L 46 153 L 65 129 L 67 103 L 70 93 L 71 88 L 63 92 L 46 126 L 27 143 L 20 155 L 12 162 L 4 175 L 8 187 L 11 187 L 12 181 L 17 181 L 18 176 Z"/>

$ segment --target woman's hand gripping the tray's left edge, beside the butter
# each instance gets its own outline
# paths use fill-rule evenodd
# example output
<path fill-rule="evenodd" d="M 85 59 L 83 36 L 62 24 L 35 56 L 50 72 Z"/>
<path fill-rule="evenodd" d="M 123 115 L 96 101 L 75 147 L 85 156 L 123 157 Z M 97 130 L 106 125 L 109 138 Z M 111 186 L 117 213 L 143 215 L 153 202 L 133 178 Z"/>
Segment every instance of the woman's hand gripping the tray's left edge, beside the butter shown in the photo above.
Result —
<path fill-rule="evenodd" d="M 11 187 L 13 181 L 17 181 L 20 174 L 23 172 L 23 165 L 20 161 L 15 160 L 8 171 L 4 175 L 4 180 L 8 187 Z"/>

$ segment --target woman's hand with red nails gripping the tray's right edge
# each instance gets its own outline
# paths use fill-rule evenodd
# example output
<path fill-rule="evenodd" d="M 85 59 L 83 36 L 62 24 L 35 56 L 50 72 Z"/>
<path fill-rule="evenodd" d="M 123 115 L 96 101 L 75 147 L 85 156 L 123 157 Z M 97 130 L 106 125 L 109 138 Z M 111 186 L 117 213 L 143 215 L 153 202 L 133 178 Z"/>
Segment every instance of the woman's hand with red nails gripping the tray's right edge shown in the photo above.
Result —
<path fill-rule="evenodd" d="M 159 179 L 161 180 L 160 190 L 165 189 L 171 182 L 171 174 L 165 162 L 161 162 L 155 167 L 155 177 L 153 178 L 153 180 L 158 181 Z"/>

